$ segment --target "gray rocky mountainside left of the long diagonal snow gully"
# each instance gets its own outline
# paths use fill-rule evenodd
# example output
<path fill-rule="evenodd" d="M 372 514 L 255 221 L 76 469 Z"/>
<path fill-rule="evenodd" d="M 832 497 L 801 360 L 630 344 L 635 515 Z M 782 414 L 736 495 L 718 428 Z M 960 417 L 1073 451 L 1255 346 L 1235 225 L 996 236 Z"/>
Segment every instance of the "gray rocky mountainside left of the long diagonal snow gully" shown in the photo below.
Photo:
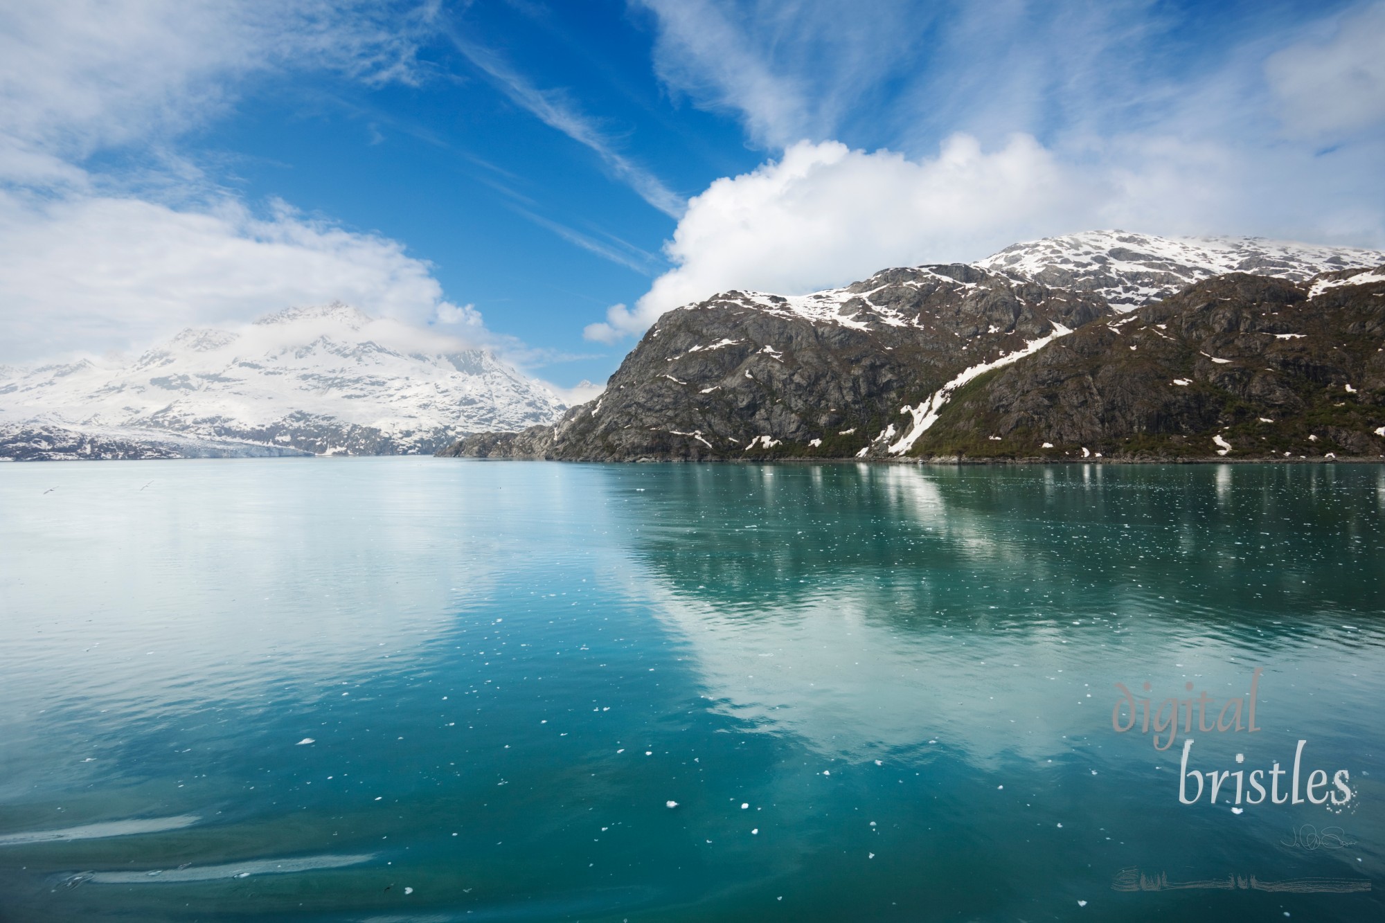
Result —
<path fill-rule="evenodd" d="M 663 315 L 597 401 L 557 425 L 440 455 L 632 461 L 850 457 L 958 371 L 1111 310 L 975 266 L 889 269 L 784 298 L 723 292 Z"/>

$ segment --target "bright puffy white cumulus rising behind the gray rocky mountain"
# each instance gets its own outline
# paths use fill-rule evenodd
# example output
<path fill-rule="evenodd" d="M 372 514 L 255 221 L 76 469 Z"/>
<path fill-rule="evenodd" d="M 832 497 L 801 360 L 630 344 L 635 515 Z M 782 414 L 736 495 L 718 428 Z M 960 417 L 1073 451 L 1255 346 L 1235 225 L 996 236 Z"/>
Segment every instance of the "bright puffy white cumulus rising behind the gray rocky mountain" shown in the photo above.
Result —
<path fill-rule="evenodd" d="M 917 161 L 801 141 L 690 201 L 665 248 L 676 269 L 586 335 L 609 342 L 733 287 L 803 292 L 925 258 L 975 259 L 1051 222 L 1071 195 L 1053 155 L 1028 136 L 993 152 L 954 136 Z"/>

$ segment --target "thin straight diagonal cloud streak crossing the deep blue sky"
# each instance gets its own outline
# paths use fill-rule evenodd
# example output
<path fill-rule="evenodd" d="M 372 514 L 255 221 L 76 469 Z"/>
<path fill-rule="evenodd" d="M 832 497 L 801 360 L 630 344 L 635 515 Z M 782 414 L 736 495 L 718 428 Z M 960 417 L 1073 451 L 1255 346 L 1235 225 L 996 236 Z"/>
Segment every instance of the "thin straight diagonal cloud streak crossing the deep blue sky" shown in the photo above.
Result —
<path fill-rule="evenodd" d="M 600 123 L 582 112 L 569 94 L 557 89 L 540 89 L 515 71 L 496 51 L 464 37 L 457 29 L 445 26 L 445 33 L 511 103 L 528 111 L 551 129 L 562 132 L 578 144 L 594 152 L 611 176 L 629 186 L 645 202 L 670 218 L 683 215 L 687 202 L 652 172 L 616 150 L 615 141 Z"/>

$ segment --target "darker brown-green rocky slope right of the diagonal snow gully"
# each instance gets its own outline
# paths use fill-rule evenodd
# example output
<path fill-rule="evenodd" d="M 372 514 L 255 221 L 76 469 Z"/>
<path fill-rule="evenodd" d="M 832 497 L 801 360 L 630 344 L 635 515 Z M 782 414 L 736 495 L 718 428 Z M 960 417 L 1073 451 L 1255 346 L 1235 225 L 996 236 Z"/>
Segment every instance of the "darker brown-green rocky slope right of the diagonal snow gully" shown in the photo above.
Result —
<path fill-rule="evenodd" d="M 978 377 L 913 446 L 924 457 L 1097 453 L 1385 456 L 1385 270 L 1198 283 Z"/>

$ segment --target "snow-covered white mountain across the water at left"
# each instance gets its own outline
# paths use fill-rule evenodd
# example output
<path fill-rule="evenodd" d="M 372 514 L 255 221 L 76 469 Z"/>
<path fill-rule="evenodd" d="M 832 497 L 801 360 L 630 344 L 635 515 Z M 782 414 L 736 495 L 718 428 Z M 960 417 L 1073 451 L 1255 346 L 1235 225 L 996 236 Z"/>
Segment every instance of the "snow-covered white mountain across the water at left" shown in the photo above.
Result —
<path fill-rule="evenodd" d="M 486 349 L 331 304 L 184 330 L 127 364 L 0 369 L 0 456 L 432 452 L 564 409 Z"/>

